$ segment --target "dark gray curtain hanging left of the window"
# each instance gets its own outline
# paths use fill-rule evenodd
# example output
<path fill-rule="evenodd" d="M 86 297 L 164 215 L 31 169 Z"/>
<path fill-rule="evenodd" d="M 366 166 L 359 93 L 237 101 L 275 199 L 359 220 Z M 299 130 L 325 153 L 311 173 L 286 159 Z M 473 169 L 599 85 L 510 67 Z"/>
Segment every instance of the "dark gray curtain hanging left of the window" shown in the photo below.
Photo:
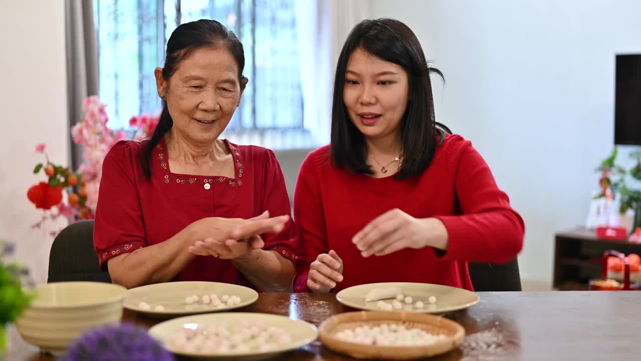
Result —
<path fill-rule="evenodd" d="M 69 129 L 82 119 L 85 97 L 98 94 L 98 58 L 94 6 L 91 0 L 65 0 L 67 50 L 67 111 Z M 82 151 L 71 142 L 71 166 L 81 163 Z"/>

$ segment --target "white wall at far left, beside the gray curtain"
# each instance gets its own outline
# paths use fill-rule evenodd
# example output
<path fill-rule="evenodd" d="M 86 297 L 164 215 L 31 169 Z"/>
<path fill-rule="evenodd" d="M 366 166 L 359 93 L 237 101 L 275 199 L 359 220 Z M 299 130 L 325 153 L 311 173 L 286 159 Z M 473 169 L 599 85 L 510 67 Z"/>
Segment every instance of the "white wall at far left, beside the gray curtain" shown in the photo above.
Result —
<path fill-rule="evenodd" d="M 55 163 L 67 164 L 67 89 L 65 80 L 64 1 L 4 1 L 0 22 L 0 240 L 16 244 L 16 258 L 45 282 L 53 238 L 33 230 L 40 219 L 27 189 L 44 175 L 33 167 L 46 143 Z M 51 225 L 51 222 L 49 223 Z"/>

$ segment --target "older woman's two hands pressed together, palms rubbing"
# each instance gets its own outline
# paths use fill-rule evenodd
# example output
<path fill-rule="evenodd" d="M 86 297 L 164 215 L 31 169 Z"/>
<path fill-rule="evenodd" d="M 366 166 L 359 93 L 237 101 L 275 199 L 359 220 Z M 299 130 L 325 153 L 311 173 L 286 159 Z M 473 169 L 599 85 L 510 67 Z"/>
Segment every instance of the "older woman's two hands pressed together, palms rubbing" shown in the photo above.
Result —
<path fill-rule="evenodd" d="M 196 242 L 189 252 L 199 256 L 215 256 L 234 260 L 265 245 L 260 234 L 279 233 L 289 216 L 269 218 L 269 211 L 248 220 L 242 218 L 204 218 L 194 222 Z"/>

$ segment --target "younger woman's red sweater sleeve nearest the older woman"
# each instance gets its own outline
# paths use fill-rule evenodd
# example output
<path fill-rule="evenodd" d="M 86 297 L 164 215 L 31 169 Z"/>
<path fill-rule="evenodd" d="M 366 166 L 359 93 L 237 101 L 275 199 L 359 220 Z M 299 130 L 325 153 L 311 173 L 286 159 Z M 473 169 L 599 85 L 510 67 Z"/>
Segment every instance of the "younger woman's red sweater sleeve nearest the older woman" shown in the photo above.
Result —
<path fill-rule="evenodd" d="M 307 288 L 310 263 L 319 254 L 329 252 L 315 157 L 312 152 L 303 161 L 294 192 L 294 219 L 299 229 L 294 292 L 310 292 Z"/>

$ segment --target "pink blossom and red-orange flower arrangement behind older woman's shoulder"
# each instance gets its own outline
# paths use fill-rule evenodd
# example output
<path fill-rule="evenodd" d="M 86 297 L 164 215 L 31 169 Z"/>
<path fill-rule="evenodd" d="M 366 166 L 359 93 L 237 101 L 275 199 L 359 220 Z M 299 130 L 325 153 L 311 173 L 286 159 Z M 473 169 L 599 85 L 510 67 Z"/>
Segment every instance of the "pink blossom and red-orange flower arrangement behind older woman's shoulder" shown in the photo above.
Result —
<path fill-rule="evenodd" d="M 158 125 L 158 116 L 142 114 L 129 119 L 131 132 L 108 127 L 105 105 L 97 96 L 89 96 L 83 103 L 83 120 L 71 130 L 73 142 L 83 146 L 83 163 L 77 170 L 53 163 L 46 152 L 46 145 L 36 146 L 36 152 L 45 157 L 33 173 L 44 172 L 45 181 L 38 182 L 27 191 L 27 197 L 43 213 L 35 228 L 47 220 L 63 217 L 69 222 L 93 219 L 98 201 L 98 189 L 107 152 L 118 141 L 129 139 L 142 141 L 153 134 Z M 66 197 L 63 197 L 66 193 Z M 63 199 L 64 198 L 64 199 Z M 54 209 L 54 210 L 52 210 Z M 56 236 L 58 231 L 51 231 Z"/>

